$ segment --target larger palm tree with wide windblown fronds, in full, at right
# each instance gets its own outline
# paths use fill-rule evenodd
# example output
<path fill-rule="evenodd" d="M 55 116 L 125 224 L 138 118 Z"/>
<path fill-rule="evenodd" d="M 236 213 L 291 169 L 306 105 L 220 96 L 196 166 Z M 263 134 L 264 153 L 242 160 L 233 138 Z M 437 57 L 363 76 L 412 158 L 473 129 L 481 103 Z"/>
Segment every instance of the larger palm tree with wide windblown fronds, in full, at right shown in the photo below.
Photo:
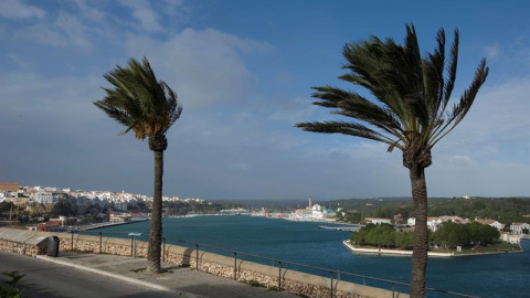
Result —
<path fill-rule="evenodd" d="M 332 86 L 314 87 L 315 105 L 331 108 L 331 114 L 350 121 L 314 121 L 296 126 L 322 134 L 343 134 L 388 145 L 391 152 L 403 152 L 409 168 L 416 216 L 412 256 L 411 297 L 424 297 L 427 265 L 427 188 L 424 169 L 431 166 L 432 148 L 455 128 L 471 107 L 489 68 L 479 63 L 473 83 L 449 108 L 456 78 L 458 30 L 446 63 L 445 32 L 436 36 L 437 46 L 423 57 L 414 25 L 406 25 L 404 44 L 392 39 L 346 44 L 342 54 L 349 72 L 339 78 L 367 88 L 377 100 Z M 446 76 L 446 77 L 445 77 Z"/>

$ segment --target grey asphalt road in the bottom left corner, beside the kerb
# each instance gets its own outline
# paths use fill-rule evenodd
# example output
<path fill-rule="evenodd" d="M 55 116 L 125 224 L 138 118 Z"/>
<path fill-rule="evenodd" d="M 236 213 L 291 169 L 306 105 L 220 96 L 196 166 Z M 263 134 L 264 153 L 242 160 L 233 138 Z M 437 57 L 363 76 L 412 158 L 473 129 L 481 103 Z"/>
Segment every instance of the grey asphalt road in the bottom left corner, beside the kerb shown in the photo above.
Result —
<path fill-rule="evenodd" d="M 153 290 L 42 259 L 0 252 L 0 273 L 15 270 L 25 274 L 20 283 L 24 297 L 179 297 L 174 292 Z M 7 285 L 3 281 L 9 278 L 1 275 L 0 280 L 4 287 Z"/>

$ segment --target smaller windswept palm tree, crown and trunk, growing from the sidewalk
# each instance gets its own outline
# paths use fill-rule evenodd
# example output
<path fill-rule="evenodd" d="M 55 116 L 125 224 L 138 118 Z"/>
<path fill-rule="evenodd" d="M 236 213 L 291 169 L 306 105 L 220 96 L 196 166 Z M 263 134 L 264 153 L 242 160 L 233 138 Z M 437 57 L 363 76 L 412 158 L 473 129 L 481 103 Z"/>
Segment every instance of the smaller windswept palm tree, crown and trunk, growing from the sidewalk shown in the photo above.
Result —
<path fill-rule="evenodd" d="M 149 149 L 155 152 L 155 193 L 147 270 L 158 273 L 162 240 L 163 151 L 168 148 L 166 132 L 180 117 L 182 106 L 168 84 L 157 81 L 146 57 L 142 63 L 130 58 L 127 67 L 116 65 L 116 68 L 104 77 L 114 88 L 103 87 L 106 96 L 94 105 L 126 127 L 120 135 L 132 130 L 137 139 L 148 138 Z"/>

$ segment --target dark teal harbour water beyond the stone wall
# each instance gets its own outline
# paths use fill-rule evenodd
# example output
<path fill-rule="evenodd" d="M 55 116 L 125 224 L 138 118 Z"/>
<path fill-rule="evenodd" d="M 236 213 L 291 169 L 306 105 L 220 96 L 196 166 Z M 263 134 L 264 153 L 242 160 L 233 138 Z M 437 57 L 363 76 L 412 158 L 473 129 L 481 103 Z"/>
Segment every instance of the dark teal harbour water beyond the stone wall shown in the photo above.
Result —
<path fill-rule="evenodd" d="M 184 240 L 342 273 L 410 281 L 409 257 L 354 255 L 342 244 L 343 240 L 349 238 L 350 232 L 318 228 L 320 225 L 332 224 L 253 216 L 165 219 L 163 235 L 168 243 L 177 244 L 177 240 Z M 147 240 L 149 222 L 106 227 L 93 233 L 99 231 L 108 235 L 115 232 L 139 232 L 144 233 L 140 240 Z M 115 234 L 119 235 L 123 234 Z M 427 286 L 479 297 L 530 297 L 530 241 L 523 241 L 522 247 L 524 253 L 430 258 Z M 273 262 L 252 260 L 273 265 Z M 341 279 L 349 278 L 342 274 Z M 368 280 L 367 285 L 384 287 Z M 427 295 L 443 297 L 432 292 Z"/>

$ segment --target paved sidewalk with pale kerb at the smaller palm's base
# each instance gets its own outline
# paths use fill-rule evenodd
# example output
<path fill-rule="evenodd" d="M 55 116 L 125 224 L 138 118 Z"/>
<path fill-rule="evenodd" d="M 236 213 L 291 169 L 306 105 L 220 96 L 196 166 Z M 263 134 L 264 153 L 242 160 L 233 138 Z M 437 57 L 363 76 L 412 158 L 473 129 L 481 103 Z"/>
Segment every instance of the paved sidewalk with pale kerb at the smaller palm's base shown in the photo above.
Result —
<path fill-rule="evenodd" d="M 287 292 L 252 287 L 230 278 L 173 264 L 163 264 L 162 268 L 166 272 L 162 274 L 147 274 L 145 258 L 63 252 L 59 257 L 38 256 L 38 258 L 108 276 L 124 283 L 174 292 L 176 297 L 297 297 Z"/>

